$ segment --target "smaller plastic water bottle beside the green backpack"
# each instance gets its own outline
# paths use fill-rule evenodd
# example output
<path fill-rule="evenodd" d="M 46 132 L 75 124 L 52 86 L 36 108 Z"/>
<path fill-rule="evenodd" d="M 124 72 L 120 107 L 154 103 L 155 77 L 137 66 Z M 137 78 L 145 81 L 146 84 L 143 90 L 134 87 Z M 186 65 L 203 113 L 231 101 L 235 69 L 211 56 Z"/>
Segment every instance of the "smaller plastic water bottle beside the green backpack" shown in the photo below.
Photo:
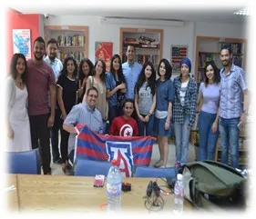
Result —
<path fill-rule="evenodd" d="M 182 178 L 182 174 L 177 174 L 177 181 L 174 186 L 174 214 L 182 214 L 183 212 L 184 184 Z"/>

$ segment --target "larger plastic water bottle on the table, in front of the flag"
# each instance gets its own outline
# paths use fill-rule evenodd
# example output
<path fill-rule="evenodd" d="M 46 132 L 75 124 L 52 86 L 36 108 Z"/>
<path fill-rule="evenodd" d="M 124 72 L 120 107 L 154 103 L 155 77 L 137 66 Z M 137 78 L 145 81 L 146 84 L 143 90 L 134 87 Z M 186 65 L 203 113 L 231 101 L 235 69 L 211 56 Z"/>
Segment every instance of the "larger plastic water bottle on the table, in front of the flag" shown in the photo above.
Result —
<path fill-rule="evenodd" d="M 119 211 L 121 208 L 122 175 L 118 161 L 112 160 L 107 176 L 108 211 Z"/>

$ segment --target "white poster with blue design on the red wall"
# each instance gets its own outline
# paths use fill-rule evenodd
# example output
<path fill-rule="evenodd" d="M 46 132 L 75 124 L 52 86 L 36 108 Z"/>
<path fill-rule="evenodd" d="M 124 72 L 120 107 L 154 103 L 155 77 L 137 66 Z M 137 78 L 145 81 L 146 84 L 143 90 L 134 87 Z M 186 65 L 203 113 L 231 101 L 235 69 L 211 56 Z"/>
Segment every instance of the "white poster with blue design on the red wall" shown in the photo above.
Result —
<path fill-rule="evenodd" d="M 13 30 L 13 46 L 14 54 L 20 53 L 26 56 L 26 59 L 31 58 L 31 37 L 29 29 L 14 29 Z"/>

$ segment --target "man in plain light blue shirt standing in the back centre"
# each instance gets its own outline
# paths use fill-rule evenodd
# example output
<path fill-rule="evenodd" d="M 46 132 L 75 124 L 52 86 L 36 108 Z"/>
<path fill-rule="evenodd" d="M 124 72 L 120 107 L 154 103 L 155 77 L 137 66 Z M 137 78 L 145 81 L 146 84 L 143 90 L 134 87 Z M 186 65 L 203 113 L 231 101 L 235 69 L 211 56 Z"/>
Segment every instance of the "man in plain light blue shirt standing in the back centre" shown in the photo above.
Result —
<path fill-rule="evenodd" d="M 142 66 L 135 62 L 134 45 L 128 45 L 126 55 L 128 61 L 122 65 L 123 73 L 127 82 L 126 97 L 134 100 L 134 87 L 138 81 L 138 75 L 140 74 Z"/>

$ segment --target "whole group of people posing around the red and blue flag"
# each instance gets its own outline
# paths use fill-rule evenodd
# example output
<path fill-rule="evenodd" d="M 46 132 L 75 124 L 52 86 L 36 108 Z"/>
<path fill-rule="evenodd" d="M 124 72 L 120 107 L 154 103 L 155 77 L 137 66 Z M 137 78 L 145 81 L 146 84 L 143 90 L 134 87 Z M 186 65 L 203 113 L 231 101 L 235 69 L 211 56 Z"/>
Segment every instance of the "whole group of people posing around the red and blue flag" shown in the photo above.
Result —
<path fill-rule="evenodd" d="M 232 64 L 230 47 L 220 51 L 221 71 L 213 61 L 206 64 L 199 94 L 196 81 L 189 75 L 191 62 L 187 57 L 180 62 L 180 75 L 172 81 L 167 59 L 160 60 L 157 71 L 150 62 L 139 65 L 134 45 L 128 45 L 124 64 L 119 55 L 113 55 L 109 72 L 101 59 L 93 65 L 85 58 L 77 66 L 73 57 L 67 57 L 62 64 L 56 58 L 55 39 L 46 45 L 41 36 L 37 37 L 33 52 L 32 59 L 26 61 L 24 55 L 15 54 L 11 61 L 7 150 L 39 147 L 44 174 L 51 174 L 49 139 L 53 162 L 71 174 L 68 160 L 74 158 L 77 124 L 87 124 L 99 134 L 157 136 L 159 161 L 155 167 L 167 166 L 168 138 L 175 135 L 175 165 L 186 164 L 190 128 L 199 105 L 200 159 L 213 159 L 220 130 L 221 161 L 227 164 L 230 148 L 231 165 L 238 165 L 237 124 L 246 120 L 248 90 L 243 70 Z"/>

